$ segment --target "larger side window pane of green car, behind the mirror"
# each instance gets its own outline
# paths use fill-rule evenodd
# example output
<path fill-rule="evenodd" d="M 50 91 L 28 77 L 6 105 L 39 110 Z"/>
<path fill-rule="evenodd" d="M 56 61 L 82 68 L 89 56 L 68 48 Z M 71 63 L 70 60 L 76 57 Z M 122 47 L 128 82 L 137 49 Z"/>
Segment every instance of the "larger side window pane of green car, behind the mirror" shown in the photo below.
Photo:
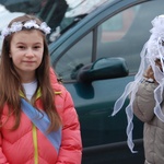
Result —
<path fill-rule="evenodd" d="M 136 73 L 140 63 L 140 51 L 150 36 L 151 20 L 163 11 L 163 4 L 157 8 L 155 5 L 156 1 L 149 1 L 131 7 L 101 24 L 97 58 L 122 57 L 130 73 Z"/>

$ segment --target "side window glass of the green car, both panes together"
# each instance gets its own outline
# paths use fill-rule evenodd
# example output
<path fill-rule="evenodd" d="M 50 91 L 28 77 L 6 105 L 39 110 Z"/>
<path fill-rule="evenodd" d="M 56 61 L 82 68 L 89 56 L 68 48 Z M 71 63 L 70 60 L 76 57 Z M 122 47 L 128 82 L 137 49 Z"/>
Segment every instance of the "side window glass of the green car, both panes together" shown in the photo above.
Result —
<path fill-rule="evenodd" d="M 164 3 L 164 1 L 161 2 Z M 106 19 L 97 26 L 96 59 L 122 57 L 127 62 L 129 73 L 136 74 L 140 65 L 140 52 L 150 36 L 151 21 L 161 14 L 161 11 L 163 11 L 163 5 L 159 5 L 156 1 L 148 1 Z M 90 32 L 57 62 L 56 71 L 63 81 L 75 80 L 78 70 L 91 63 L 92 50 L 95 49 L 92 47 L 92 32 Z"/>

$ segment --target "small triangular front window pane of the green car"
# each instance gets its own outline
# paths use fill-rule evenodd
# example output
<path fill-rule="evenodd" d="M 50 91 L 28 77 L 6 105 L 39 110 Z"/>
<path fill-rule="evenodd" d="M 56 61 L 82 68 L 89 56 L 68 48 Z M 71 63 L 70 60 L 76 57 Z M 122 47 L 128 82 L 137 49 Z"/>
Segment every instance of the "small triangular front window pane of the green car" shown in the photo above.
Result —
<path fill-rule="evenodd" d="M 92 32 L 73 45 L 56 65 L 57 74 L 62 80 L 75 80 L 77 72 L 81 67 L 91 63 L 92 56 Z"/>

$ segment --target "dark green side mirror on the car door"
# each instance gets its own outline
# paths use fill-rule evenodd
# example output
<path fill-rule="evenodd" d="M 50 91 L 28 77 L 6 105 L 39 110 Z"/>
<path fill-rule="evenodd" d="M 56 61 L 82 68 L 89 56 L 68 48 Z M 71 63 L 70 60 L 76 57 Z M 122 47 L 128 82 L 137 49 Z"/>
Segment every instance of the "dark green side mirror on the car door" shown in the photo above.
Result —
<path fill-rule="evenodd" d="M 121 78 L 128 74 L 129 70 L 124 58 L 101 58 L 94 63 L 82 67 L 77 80 L 91 83 L 95 80 Z"/>

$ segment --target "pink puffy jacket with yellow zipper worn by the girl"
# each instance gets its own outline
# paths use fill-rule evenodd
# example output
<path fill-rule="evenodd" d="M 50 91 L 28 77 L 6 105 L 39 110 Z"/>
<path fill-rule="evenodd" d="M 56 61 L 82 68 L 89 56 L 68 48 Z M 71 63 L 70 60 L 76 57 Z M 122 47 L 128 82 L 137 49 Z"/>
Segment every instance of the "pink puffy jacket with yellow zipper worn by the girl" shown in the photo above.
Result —
<path fill-rule="evenodd" d="M 10 131 L 14 118 L 7 120 L 8 105 L 4 106 L 0 129 L 0 164 L 81 164 L 82 142 L 80 124 L 69 92 L 57 82 L 50 71 L 57 112 L 62 120 L 61 145 L 59 152 L 50 141 L 22 113 L 20 127 Z M 42 108 L 40 98 L 36 105 Z"/>

